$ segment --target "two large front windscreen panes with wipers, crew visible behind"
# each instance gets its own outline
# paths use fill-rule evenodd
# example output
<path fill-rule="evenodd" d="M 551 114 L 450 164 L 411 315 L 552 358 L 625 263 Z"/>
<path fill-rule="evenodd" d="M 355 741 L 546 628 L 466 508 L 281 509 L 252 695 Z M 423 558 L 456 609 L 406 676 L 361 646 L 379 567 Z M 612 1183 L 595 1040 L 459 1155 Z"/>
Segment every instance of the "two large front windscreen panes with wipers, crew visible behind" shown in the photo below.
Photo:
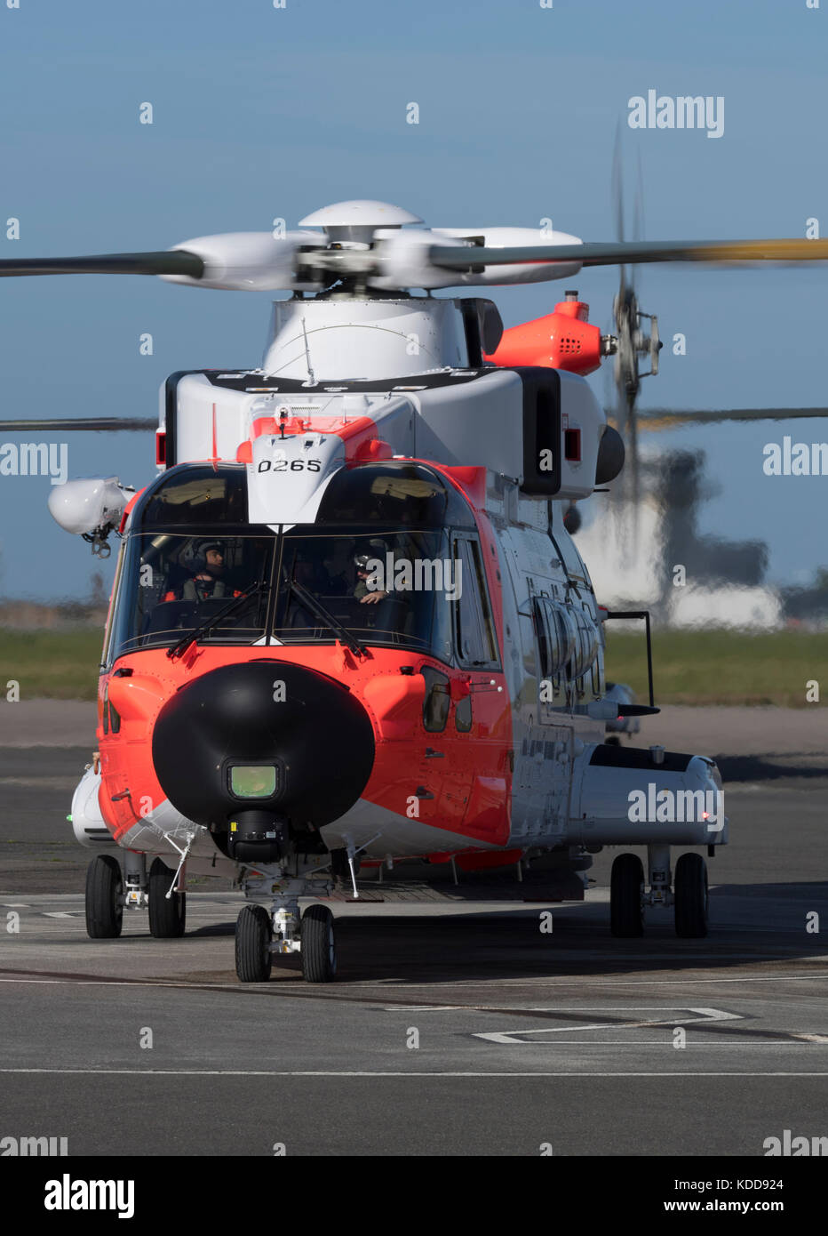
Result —
<path fill-rule="evenodd" d="M 169 648 L 215 614 L 200 643 L 254 644 L 265 633 L 280 644 L 325 643 L 342 639 L 346 628 L 363 644 L 450 664 L 455 591 L 442 530 L 133 533 L 109 658 Z"/>

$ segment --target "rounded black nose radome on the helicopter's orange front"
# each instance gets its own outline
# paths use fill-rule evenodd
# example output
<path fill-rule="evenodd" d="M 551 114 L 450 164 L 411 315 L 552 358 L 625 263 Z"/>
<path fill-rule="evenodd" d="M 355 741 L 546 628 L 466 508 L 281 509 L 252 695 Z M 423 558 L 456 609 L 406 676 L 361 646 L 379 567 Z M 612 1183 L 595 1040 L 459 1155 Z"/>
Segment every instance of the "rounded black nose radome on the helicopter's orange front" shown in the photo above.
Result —
<path fill-rule="evenodd" d="M 226 828 L 243 813 L 271 813 L 320 827 L 359 798 L 374 730 L 333 679 L 285 661 L 246 661 L 211 670 L 167 701 L 152 758 L 164 794 L 195 823 Z"/>

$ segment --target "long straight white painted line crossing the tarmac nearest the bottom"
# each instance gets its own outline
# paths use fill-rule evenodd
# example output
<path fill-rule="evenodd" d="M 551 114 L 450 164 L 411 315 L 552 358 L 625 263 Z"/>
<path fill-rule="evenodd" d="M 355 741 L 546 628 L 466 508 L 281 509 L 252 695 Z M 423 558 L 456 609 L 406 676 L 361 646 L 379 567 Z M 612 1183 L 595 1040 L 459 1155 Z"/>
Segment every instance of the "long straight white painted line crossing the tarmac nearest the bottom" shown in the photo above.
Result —
<path fill-rule="evenodd" d="M 500 1072 L 487 1072 L 481 1069 L 428 1069 L 428 1070 L 384 1070 L 384 1069 L 6 1069 L 0 1068 L 0 1073 L 16 1074 L 49 1074 L 60 1077 L 228 1077 L 228 1078 L 827 1078 L 828 1069 L 819 1072 L 786 1070 L 772 1072 L 731 1072 L 719 1070 L 716 1073 L 698 1073 L 696 1070 L 669 1070 L 666 1073 L 643 1072 L 634 1073 L 591 1073 L 585 1069 L 566 1070 L 542 1070 L 542 1069 L 507 1069 Z"/>

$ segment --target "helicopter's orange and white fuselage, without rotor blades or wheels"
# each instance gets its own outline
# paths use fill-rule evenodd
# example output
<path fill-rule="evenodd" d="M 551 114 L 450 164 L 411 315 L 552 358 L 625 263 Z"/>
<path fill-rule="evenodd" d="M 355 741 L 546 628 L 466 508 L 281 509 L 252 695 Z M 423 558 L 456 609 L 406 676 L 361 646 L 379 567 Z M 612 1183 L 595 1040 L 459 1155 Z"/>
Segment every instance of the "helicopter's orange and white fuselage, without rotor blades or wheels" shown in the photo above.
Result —
<path fill-rule="evenodd" d="M 417 302 L 443 349 L 444 304 Z M 412 346 L 396 302 L 291 303 L 285 356 L 297 315 L 313 334 L 311 305 L 306 370 L 313 350 L 349 363 L 326 331 L 369 330 L 390 350 L 380 376 L 200 371 L 163 388 L 159 475 L 120 528 L 100 785 L 96 803 L 77 796 L 77 836 L 186 847 L 194 871 L 329 850 L 582 865 L 584 848 L 648 840 L 633 791 L 717 774 L 602 748 L 602 614 L 563 522 L 621 466 L 587 383 L 475 365 L 473 335 L 457 368 L 383 377 Z"/>

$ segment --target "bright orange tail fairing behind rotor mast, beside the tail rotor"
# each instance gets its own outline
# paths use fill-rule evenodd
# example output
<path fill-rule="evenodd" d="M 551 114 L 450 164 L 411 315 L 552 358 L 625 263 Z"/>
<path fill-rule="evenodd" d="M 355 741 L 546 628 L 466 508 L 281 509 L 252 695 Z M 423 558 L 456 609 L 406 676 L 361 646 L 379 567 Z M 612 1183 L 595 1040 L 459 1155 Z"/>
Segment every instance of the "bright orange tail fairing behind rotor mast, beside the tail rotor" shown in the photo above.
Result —
<path fill-rule="evenodd" d="M 554 313 L 510 326 L 497 349 L 486 356 L 492 365 L 543 365 L 570 373 L 594 373 L 601 365 L 601 331 L 589 321 L 582 300 L 561 300 Z"/>

